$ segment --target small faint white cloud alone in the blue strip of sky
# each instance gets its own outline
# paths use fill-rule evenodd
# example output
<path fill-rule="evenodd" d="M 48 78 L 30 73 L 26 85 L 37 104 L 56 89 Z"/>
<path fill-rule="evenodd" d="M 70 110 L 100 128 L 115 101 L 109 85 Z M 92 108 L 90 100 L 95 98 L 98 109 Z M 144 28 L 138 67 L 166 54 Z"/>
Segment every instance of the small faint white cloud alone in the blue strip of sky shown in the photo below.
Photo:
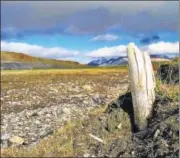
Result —
<path fill-rule="evenodd" d="M 98 35 L 94 37 L 91 41 L 115 41 L 119 39 L 119 36 L 113 34 L 105 34 L 105 35 Z"/>

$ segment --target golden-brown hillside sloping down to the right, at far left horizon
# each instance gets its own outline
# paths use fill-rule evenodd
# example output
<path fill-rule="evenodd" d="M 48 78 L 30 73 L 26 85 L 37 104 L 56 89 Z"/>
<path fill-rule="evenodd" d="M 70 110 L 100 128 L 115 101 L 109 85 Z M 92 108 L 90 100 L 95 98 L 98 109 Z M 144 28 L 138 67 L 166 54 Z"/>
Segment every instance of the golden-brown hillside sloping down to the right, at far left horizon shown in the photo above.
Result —
<path fill-rule="evenodd" d="M 1 69 L 84 68 L 74 61 L 33 57 L 23 53 L 1 52 Z"/>

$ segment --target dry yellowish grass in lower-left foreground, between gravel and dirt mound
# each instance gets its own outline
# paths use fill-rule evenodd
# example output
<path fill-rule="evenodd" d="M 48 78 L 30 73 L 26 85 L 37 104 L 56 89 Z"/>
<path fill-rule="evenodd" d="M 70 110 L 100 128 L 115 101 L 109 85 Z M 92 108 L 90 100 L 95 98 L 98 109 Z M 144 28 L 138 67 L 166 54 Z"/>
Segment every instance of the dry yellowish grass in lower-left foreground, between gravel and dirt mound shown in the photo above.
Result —
<path fill-rule="evenodd" d="M 106 107 L 94 109 L 90 112 L 91 121 L 101 115 Z M 54 131 L 54 134 L 30 149 L 18 147 L 8 148 L 2 151 L 3 157 L 72 157 L 82 155 L 87 145 L 94 141 L 88 136 L 89 130 L 84 127 L 86 120 L 74 120 L 68 122 L 63 128 Z"/>

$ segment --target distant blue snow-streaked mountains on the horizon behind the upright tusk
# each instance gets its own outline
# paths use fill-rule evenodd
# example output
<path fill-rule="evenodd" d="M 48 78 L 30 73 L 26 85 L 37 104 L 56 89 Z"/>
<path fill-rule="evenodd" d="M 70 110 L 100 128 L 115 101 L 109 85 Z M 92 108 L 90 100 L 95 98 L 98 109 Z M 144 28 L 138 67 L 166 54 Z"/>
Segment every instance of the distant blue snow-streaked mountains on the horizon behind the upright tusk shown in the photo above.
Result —
<path fill-rule="evenodd" d="M 171 54 L 172 55 L 172 54 Z M 174 54 L 176 56 L 177 54 Z M 150 55 L 152 61 L 170 61 L 174 56 L 168 54 L 152 54 Z M 89 66 L 116 66 L 127 64 L 127 56 L 112 57 L 112 58 L 96 58 L 88 63 Z"/>

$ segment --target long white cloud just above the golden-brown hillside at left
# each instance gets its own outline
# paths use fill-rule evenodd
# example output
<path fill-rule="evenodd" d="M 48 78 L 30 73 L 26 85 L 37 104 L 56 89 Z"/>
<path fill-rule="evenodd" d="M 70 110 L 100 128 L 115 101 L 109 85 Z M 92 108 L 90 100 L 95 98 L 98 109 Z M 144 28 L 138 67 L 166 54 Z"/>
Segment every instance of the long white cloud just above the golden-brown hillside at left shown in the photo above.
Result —
<path fill-rule="evenodd" d="M 1 41 L 1 51 L 21 52 L 32 56 L 45 58 L 67 58 L 74 57 L 79 54 L 75 50 L 67 50 L 61 47 L 43 47 L 38 45 L 30 45 L 27 43 L 16 43 Z"/>

